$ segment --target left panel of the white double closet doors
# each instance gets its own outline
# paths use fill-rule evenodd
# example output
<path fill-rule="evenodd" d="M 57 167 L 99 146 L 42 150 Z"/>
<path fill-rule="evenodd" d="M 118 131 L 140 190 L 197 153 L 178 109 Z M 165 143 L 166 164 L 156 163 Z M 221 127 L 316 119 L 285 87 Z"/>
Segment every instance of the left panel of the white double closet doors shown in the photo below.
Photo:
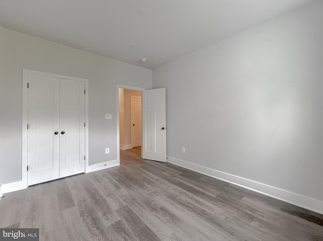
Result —
<path fill-rule="evenodd" d="M 28 85 L 28 185 L 34 185 L 60 177 L 60 82 L 29 74 Z"/>

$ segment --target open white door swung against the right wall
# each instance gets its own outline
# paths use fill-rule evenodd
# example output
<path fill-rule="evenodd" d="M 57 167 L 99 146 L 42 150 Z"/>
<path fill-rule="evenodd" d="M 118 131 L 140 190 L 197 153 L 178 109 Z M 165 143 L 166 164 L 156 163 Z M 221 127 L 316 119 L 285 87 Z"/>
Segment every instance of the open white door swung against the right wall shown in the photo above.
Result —
<path fill-rule="evenodd" d="M 142 91 L 142 158 L 166 162 L 166 89 Z"/>

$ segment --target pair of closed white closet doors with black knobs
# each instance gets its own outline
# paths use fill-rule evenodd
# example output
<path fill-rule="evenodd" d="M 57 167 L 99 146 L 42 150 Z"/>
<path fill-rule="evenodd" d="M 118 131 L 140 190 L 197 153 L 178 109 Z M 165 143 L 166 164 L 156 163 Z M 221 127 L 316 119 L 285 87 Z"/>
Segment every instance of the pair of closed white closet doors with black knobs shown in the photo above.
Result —
<path fill-rule="evenodd" d="M 28 185 L 85 171 L 85 83 L 28 76 Z"/>

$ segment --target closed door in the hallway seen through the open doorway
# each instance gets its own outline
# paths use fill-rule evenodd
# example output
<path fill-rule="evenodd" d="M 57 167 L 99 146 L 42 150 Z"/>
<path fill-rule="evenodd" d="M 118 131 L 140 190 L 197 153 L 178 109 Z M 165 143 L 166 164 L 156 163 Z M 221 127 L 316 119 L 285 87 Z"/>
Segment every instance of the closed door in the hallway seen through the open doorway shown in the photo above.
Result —
<path fill-rule="evenodd" d="M 131 146 L 142 145 L 141 97 L 131 96 Z"/>

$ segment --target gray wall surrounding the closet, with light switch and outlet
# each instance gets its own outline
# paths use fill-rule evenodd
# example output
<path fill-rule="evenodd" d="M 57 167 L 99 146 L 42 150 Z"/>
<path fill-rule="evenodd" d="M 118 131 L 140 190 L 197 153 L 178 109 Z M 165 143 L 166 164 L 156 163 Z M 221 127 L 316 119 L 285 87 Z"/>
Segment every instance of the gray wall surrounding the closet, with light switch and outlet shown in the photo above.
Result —
<path fill-rule="evenodd" d="M 21 180 L 22 69 L 89 79 L 89 164 L 117 159 L 117 84 L 150 89 L 151 70 L 0 27 L 0 183 Z"/>

